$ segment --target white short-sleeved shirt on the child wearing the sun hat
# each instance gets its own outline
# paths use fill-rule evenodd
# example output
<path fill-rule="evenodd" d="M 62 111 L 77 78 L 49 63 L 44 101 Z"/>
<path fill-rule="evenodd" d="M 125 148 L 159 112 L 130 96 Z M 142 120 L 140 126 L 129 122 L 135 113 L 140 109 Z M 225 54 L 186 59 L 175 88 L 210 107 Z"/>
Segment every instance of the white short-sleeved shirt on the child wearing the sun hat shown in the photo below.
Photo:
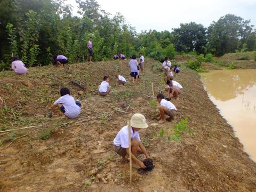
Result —
<path fill-rule="evenodd" d="M 138 131 L 132 130 L 131 127 L 131 140 L 138 139 L 140 141 L 140 135 Z M 124 126 L 116 135 L 114 139 L 115 146 L 121 146 L 123 148 L 129 148 L 129 130 L 128 125 Z"/>

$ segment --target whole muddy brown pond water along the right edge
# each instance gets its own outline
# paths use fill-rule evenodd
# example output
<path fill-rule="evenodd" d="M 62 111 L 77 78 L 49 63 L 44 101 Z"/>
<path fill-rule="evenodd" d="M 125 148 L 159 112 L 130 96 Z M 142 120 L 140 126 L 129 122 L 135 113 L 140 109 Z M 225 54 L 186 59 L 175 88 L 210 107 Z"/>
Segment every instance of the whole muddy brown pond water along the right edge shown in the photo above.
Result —
<path fill-rule="evenodd" d="M 256 162 L 256 69 L 212 70 L 200 75 L 209 98 Z"/>

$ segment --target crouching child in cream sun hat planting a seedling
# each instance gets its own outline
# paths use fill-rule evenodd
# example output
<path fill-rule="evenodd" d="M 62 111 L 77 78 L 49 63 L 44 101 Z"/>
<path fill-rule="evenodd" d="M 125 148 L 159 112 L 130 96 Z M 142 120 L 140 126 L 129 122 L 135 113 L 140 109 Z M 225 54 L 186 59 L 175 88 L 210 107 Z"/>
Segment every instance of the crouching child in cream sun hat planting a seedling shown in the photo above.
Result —
<path fill-rule="evenodd" d="M 142 114 L 134 114 L 131 118 L 131 151 L 132 161 L 137 163 L 142 169 L 146 166 L 137 158 L 137 154 L 144 154 L 146 158 L 149 158 L 146 148 L 140 141 L 139 130 L 146 129 L 148 124 L 146 123 L 145 116 Z M 116 135 L 114 139 L 115 151 L 118 155 L 125 159 L 126 154 L 129 155 L 129 130 L 128 125 L 124 126 Z"/>

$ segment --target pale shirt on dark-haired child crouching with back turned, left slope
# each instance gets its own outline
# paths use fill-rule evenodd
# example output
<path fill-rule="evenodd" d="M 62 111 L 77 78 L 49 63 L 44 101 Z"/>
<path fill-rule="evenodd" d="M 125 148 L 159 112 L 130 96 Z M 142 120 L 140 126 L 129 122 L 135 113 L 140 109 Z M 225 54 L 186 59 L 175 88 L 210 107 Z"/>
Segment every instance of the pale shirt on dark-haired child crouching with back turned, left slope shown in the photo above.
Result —
<path fill-rule="evenodd" d="M 58 103 L 65 107 L 64 114 L 69 118 L 76 118 L 81 112 L 81 107 L 76 105 L 75 99 L 69 94 L 63 95 L 53 104 L 57 105 Z"/>

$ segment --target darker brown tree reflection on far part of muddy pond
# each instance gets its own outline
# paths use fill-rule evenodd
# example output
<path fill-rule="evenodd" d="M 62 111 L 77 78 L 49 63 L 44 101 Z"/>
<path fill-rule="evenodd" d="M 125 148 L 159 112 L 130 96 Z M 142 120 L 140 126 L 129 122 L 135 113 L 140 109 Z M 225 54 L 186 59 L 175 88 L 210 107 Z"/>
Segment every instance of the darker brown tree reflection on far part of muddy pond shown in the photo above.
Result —
<path fill-rule="evenodd" d="M 201 74 L 202 81 L 211 90 L 211 95 L 218 100 L 227 101 L 243 94 L 256 83 L 255 69 L 215 70 Z M 218 82 L 218 86 L 216 86 Z"/>

